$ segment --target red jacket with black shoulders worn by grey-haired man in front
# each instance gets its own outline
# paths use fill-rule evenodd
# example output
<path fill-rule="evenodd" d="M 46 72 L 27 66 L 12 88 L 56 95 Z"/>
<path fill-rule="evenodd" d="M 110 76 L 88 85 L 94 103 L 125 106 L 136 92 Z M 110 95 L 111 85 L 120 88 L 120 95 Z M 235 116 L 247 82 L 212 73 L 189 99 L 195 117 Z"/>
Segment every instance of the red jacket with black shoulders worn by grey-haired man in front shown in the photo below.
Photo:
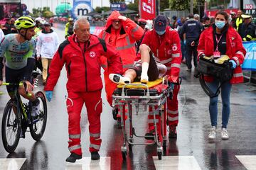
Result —
<path fill-rule="evenodd" d="M 67 90 L 68 91 L 97 91 L 102 89 L 102 79 L 100 77 L 100 56 L 104 55 L 110 61 L 113 72 L 122 74 L 122 62 L 119 52 L 110 45 L 106 45 L 104 40 L 90 35 L 85 52 L 75 42 L 76 35 L 72 35 L 65 40 L 55 53 L 50 63 L 49 76 L 45 91 L 53 91 L 60 76 L 60 71 L 65 64 L 67 70 Z"/>

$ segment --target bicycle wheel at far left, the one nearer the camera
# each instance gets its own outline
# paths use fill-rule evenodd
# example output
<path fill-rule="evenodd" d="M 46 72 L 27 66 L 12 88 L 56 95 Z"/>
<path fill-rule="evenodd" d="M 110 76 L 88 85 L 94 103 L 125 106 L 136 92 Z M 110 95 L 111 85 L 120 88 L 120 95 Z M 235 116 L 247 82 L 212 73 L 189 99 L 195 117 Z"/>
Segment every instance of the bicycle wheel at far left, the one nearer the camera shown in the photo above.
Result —
<path fill-rule="evenodd" d="M 16 102 L 9 100 L 4 108 L 1 125 L 4 149 L 9 153 L 14 152 L 21 135 L 21 114 L 14 113 L 13 107 L 17 108 Z"/>

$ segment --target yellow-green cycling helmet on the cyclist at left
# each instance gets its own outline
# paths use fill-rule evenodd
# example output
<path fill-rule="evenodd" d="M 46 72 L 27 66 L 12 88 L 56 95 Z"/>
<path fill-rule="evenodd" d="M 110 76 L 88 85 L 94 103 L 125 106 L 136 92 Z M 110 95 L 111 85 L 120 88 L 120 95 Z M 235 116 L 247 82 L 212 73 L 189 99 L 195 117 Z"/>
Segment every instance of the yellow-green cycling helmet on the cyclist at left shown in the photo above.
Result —
<path fill-rule="evenodd" d="M 20 30 L 21 28 L 33 28 L 36 23 L 30 16 L 21 16 L 15 21 L 14 26 L 17 30 Z"/>

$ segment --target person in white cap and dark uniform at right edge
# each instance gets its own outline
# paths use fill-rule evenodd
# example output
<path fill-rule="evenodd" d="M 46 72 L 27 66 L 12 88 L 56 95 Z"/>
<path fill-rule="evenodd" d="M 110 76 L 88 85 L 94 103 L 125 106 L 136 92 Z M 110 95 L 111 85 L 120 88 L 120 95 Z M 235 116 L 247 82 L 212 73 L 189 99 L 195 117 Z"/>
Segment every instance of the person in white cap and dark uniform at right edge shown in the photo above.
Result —
<path fill-rule="evenodd" d="M 256 26 L 252 23 L 252 16 L 242 14 L 241 17 L 244 19 L 244 22 L 240 24 L 238 33 L 241 36 L 243 41 L 256 40 L 255 29 Z"/>

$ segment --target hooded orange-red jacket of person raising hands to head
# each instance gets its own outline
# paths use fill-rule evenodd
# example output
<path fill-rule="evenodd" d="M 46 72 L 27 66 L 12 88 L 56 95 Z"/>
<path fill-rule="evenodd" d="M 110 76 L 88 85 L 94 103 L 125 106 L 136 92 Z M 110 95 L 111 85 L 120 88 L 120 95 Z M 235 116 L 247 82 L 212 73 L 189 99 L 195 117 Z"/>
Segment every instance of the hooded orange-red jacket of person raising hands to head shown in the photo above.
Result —
<path fill-rule="evenodd" d="M 119 51 L 125 72 L 134 64 L 134 60 L 137 57 L 135 42 L 142 38 L 144 30 L 129 18 L 126 21 L 121 21 L 121 28 L 115 30 L 112 28 L 112 21 L 119 20 L 119 16 L 121 14 L 118 11 L 111 13 L 109 18 L 107 18 L 105 30 L 102 30 L 99 38 L 102 38 L 107 44 Z M 102 58 L 102 67 L 107 70 L 107 60 L 105 57 Z"/>

